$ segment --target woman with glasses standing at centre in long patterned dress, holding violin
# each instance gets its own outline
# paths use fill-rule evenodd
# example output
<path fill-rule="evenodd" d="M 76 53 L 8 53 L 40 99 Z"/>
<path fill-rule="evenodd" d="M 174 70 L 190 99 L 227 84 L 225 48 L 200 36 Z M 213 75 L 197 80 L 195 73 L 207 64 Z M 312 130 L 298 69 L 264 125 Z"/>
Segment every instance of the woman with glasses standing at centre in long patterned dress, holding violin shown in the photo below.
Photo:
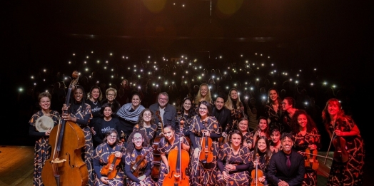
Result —
<path fill-rule="evenodd" d="M 193 145 L 191 148 L 191 185 L 216 185 L 216 161 L 218 155 L 218 138 L 221 138 L 221 126 L 217 119 L 211 116 L 211 103 L 206 100 L 198 105 L 198 115 L 193 117 L 190 125 L 190 139 Z M 208 136 L 212 139 L 211 152 L 212 162 L 199 160 L 201 150 L 201 138 Z"/>

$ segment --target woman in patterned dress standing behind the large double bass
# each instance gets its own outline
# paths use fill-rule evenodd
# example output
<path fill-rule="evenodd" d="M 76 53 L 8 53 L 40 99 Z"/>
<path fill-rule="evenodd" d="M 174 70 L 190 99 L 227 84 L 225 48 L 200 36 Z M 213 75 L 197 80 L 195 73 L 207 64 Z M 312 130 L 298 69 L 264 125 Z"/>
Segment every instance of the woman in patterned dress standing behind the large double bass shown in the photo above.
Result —
<path fill-rule="evenodd" d="M 73 91 L 73 99 L 69 108 L 66 104 L 62 107 L 62 111 L 68 110 L 66 114 L 62 115 L 62 118 L 66 121 L 72 121 L 79 125 L 84 132 L 85 146 L 82 149 L 82 159 L 87 165 L 89 170 L 89 182 L 87 185 L 93 185 L 93 167 L 92 167 L 92 155 L 93 155 L 93 142 L 91 129 L 89 127 L 89 120 L 91 118 L 91 106 L 85 103 L 84 100 L 86 93 L 84 92 L 83 86 L 76 86 Z"/>

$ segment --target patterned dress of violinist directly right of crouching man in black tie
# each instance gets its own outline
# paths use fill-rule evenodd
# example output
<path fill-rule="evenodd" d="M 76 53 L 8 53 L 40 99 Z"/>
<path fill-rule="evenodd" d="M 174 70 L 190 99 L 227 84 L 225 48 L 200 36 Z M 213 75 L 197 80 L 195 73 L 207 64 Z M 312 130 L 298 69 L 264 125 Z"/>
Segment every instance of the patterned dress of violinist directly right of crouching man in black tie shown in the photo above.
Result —
<path fill-rule="evenodd" d="M 310 133 L 301 133 L 293 134 L 295 136 L 294 147 L 296 150 L 305 151 L 308 148 L 308 145 L 317 145 L 320 146 L 320 135 L 318 134 L 317 128 L 313 128 Z M 311 153 L 311 152 L 310 152 Z M 303 180 L 303 186 L 315 186 L 317 185 L 317 170 L 313 170 L 310 166 L 305 166 L 305 176 Z"/>

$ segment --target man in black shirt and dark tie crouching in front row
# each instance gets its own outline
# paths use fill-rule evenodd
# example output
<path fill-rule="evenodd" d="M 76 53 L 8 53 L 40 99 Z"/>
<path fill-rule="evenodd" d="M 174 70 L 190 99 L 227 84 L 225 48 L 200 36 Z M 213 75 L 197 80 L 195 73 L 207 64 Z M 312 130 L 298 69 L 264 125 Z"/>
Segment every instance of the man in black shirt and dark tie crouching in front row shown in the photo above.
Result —
<path fill-rule="evenodd" d="M 304 157 L 293 150 L 293 135 L 283 133 L 283 150 L 272 155 L 268 165 L 268 180 L 272 185 L 297 186 L 303 182 L 305 174 Z"/>

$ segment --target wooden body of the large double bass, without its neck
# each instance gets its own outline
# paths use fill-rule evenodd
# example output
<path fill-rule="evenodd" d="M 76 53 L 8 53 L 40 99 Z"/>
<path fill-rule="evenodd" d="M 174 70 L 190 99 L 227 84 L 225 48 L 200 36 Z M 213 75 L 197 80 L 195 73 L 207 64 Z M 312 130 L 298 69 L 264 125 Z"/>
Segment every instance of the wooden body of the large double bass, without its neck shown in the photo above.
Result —
<path fill-rule="evenodd" d="M 51 130 L 49 140 L 52 152 L 56 149 L 54 142 L 57 140 L 61 125 L 57 125 Z M 52 154 L 49 160 L 46 160 L 43 170 L 41 170 L 41 180 L 44 185 L 57 186 L 54 176 L 54 170 L 57 170 L 60 177 L 60 186 L 86 185 L 89 180 L 89 171 L 86 163 L 81 159 L 81 148 L 85 145 L 84 132 L 76 123 L 66 121 L 64 125 L 64 138 L 61 142 L 61 151 L 58 158 L 66 161 L 60 163 L 52 162 L 52 160 L 57 158 L 53 157 L 54 154 Z"/>

